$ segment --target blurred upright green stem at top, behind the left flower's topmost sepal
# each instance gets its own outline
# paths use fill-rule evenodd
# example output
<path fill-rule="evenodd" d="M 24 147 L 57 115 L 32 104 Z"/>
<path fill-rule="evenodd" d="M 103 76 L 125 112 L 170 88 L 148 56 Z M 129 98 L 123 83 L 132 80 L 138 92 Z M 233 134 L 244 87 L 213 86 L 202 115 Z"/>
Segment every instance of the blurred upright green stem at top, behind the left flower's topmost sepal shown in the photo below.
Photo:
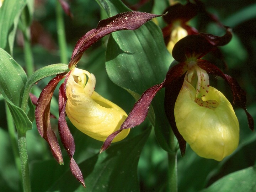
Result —
<path fill-rule="evenodd" d="M 57 20 L 58 43 L 59 43 L 59 49 L 60 49 L 60 62 L 64 64 L 68 64 L 68 57 L 67 57 L 68 53 L 67 53 L 67 45 L 66 45 L 66 34 L 65 34 L 63 11 L 59 1 L 57 1 L 57 5 L 56 5 L 56 20 Z"/>

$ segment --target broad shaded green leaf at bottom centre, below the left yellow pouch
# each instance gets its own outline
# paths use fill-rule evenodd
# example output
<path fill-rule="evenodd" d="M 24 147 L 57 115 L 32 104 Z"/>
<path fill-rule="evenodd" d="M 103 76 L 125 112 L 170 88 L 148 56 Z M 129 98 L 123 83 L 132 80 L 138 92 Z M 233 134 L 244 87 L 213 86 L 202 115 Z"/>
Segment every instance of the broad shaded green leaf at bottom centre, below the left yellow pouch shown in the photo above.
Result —
<path fill-rule="evenodd" d="M 86 189 L 68 170 L 48 191 L 139 191 L 137 165 L 149 133 L 150 128 L 79 164 Z"/>

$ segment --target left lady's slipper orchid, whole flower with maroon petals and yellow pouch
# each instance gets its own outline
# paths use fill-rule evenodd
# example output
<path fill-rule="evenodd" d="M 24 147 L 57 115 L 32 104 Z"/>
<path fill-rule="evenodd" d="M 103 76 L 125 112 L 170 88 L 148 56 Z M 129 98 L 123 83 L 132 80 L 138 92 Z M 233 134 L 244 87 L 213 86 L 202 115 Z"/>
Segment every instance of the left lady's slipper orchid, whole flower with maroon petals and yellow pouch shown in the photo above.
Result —
<path fill-rule="evenodd" d="M 35 116 L 38 132 L 48 142 L 54 158 L 59 164 L 63 164 L 60 146 L 50 125 L 50 101 L 58 83 L 65 78 L 59 87 L 59 136 L 70 158 L 70 170 L 84 187 L 84 178 L 73 159 L 75 142 L 66 123 L 66 114 L 81 132 L 100 141 L 104 141 L 108 135 L 118 130 L 127 114 L 94 91 L 96 80 L 93 74 L 75 66 L 85 50 L 107 34 L 120 30 L 135 30 L 159 16 L 161 15 L 132 11 L 101 20 L 97 28 L 87 32 L 76 43 L 69 62 L 70 71 L 54 77 L 37 100 Z M 128 133 L 129 129 L 124 130 L 114 142 L 124 139 Z"/>

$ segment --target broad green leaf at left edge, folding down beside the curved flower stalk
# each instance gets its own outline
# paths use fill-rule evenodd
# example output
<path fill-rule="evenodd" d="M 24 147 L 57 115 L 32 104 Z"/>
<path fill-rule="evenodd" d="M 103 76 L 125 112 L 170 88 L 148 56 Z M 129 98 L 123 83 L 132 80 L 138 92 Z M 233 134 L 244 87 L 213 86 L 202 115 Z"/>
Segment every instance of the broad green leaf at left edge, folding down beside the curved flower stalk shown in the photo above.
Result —
<path fill-rule="evenodd" d="M 4 96 L 19 133 L 32 128 L 27 114 L 20 108 L 27 75 L 5 50 L 0 48 L 0 92 Z"/>

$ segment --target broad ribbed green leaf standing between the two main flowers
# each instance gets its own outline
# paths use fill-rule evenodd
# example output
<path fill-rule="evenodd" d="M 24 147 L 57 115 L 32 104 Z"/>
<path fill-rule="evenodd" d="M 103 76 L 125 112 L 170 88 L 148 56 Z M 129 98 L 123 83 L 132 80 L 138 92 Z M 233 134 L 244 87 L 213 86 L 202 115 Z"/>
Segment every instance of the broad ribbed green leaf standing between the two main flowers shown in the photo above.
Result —
<path fill-rule="evenodd" d="M 107 73 L 114 83 L 128 92 L 141 95 L 149 87 L 161 83 L 171 60 L 162 33 L 153 22 L 148 22 L 135 31 L 113 33 L 108 40 Z M 164 92 L 160 91 L 152 103 L 156 114 L 155 133 L 162 148 L 172 151 L 169 147 L 171 130 L 163 103 Z"/>

